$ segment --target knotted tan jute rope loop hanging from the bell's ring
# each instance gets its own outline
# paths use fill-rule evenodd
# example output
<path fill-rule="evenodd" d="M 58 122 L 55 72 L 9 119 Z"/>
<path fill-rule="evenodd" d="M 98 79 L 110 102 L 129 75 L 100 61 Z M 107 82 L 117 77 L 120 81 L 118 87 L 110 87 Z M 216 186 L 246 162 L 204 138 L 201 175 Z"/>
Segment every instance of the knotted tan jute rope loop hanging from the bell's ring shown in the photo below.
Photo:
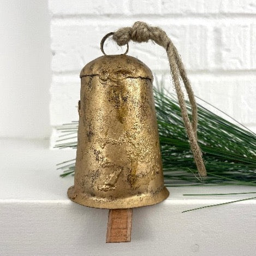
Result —
<path fill-rule="evenodd" d="M 180 104 L 182 118 L 190 142 L 190 148 L 194 155 L 195 164 L 197 165 L 200 176 L 205 177 L 206 169 L 202 158 L 202 152 L 197 141 L 197 104 L 195 103 L 194 93 L 187 78 L 187 74 L 181 61 L 180 55 L 178 55 L 177 49 L 170 40 L 170 38 L 162 29 L 158 27 L 148 26 L 147 23 L 140 21 L 135 22 L 132 27 L 123 27 L 118 29 L 116 32 L 113 33 L 112 38 L 120 46 L 128 44 L 130 40 L 138 43 L 152 40 L 158 45 L 164 47 L 169 59 L 172 79 L 174 81 L 174 86 L 178 97 L 178 103 Z M 181 90 L 179 79 L 180 77 L 188 93 L 189 102 L 192 108 L 192 123 L 190 122 L 188 117 L 184 94 Z"/>

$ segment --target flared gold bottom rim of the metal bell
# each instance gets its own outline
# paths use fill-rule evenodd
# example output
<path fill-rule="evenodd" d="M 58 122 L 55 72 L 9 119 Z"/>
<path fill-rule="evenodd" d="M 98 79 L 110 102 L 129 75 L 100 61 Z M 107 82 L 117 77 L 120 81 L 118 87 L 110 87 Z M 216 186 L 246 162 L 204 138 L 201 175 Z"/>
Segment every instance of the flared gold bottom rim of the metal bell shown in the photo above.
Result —
<path fill-rule="evenodd" d="M 68 188 L 67 194 L 68 198 L 74 203 L 87 207 L 98 209 L 130 209 L 161 203 L 169 197 L 170 192 L 165 186 L 163 186 L 162 190 L 160 190 L 156 195 L 143 193 L 139 196 L 133 195 L 132 197 L 127 198 L 106 200 L 104 198 L 92 197 L 86 193 L 76 193 L 75 187 L 72 186 Z"/>

